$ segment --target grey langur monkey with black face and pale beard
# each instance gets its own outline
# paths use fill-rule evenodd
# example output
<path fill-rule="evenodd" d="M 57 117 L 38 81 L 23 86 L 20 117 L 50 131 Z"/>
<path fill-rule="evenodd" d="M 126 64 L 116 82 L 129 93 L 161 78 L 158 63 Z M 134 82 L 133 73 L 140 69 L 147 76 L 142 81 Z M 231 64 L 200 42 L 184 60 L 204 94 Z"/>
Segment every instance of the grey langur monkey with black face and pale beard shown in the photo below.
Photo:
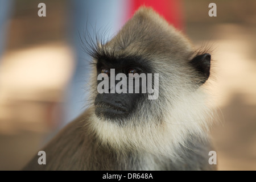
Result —
<path fill-rule="evenodd" d="M 199 53 L 147 7 L 137 10 L 112 40 L 91 48 L 92 104 L 42 148 L 46 165 L 39 165 L 36 155 L 24 170 L 216 169 L 208 162 L 214 115 L 202 86 L 210 75 L 209 53 Z M 109 76 L 110 69 L 127 77 L 158 73 L 159 84 L 153 84 L 158 97 L 99 93 L 97 76 Z"/>

